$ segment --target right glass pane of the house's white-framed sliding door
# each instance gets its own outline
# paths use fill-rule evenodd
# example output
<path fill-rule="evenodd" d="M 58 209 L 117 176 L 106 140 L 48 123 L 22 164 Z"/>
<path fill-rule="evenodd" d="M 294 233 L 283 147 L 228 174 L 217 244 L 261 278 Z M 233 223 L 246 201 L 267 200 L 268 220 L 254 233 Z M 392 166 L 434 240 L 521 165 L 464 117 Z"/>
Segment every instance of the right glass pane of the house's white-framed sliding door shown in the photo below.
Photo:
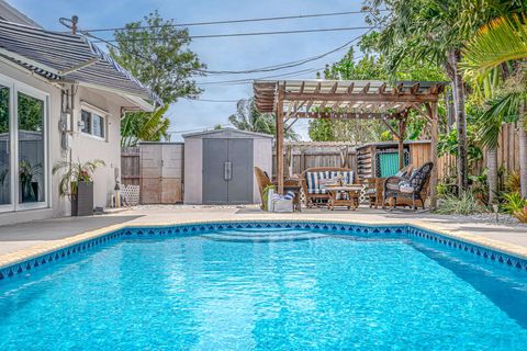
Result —
<path fill-rule="evenodd" d="M 44 101 L 18 93 L 19 203 L 45 201 Z"/>

